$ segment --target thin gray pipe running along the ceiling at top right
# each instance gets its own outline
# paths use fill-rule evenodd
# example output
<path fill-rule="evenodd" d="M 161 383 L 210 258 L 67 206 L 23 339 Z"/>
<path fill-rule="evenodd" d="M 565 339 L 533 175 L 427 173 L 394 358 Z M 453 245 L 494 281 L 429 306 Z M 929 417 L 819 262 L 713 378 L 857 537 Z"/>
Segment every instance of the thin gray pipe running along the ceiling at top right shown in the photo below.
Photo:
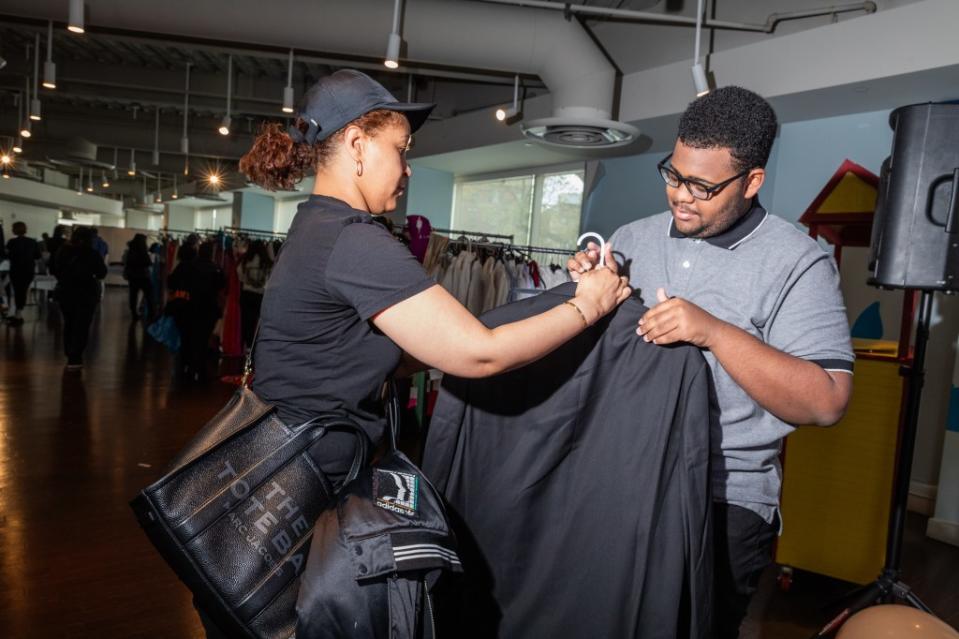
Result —
<path fill-rule="evenodd" d="M 678 25 L 696 25 L 696 18 L 687 18 L 686 16 L 675 16 L 666 13 L 652 13 L 649 11 L 633 11 L 631 9 L 612 9 L 608 7 L 590 7 L 578 4 L 569 4 L 565 2 L 545 2 L 544 0 L 478 0 L 486 4 L 508 4 L 516 7 L 532 7 L 536 9 L 551 9 L 553 11 L 569 12 L 574 15 L 588 16 L 591 18 L 606 18 L 628 22 L 655 22 L 659 24 L 678 24 Z M 707 29 L 732 29 L 734 31 L 757 31 L 760 33 L 772 33 L 776 25 L 785 20 L 796 20 L 799 18 L 813 18 L 816 16 L 834 15 L 837 13 L 848 13 L 851 11 L 865 11 L 866 13 L 876 12 L 876 3 L 851 2 L 845 4 L 819 7 L 817 9 L 803 9 L 800 11 L 786 11 L 782 13 L 771 13 L 766 18 L 764 24 L 754 24 L 749 22 L 730 22 L 728 20 L 707 20 L 702 26 Z"/>

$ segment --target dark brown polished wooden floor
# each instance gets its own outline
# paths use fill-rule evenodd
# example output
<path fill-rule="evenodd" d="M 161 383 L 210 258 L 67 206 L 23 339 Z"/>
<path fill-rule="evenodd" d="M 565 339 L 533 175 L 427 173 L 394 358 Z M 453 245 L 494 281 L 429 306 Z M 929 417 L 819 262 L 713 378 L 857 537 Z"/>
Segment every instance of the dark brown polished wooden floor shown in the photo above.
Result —
<path fill-rule="evenodd" d="M 127 502 L 154 480 L 233 388 L 172 381 L 170 356 L 109 289 L 80 374 L 65 373 L 55 308 L 0 328 L 0 636 L 202 637 L 190 595 L 160 560 Z M 959 549 L 910 520 L 906 579 L 959 625 Z M 744 637 L 808 637 L 849 585 L 768 571 Z M 948 614 L 947 614 L 948 613 Z"/>

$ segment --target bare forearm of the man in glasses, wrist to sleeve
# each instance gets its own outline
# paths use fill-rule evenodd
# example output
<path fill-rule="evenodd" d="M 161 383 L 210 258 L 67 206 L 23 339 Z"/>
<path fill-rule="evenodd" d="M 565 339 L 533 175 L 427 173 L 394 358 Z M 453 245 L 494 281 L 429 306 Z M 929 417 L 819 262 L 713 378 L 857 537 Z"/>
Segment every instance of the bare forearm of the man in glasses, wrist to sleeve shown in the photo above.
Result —
<path fill-rule="evenodd" d="M 710 351 L 760 406 L 790 424 L 831 426 L 846 412 L 852 376 L 830 373 L 721 322 Z"/>

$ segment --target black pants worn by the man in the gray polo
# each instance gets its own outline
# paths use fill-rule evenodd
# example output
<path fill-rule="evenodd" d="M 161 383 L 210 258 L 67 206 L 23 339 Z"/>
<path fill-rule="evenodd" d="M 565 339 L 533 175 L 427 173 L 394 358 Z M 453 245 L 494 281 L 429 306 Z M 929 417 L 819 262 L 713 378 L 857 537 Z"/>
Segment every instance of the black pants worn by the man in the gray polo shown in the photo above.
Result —
<path fill-rule="evenodd" d="M 772 561 L 779 521 L 767 524 L 751 510 L 713 504 L 713 638 L 735 639 L 759 577 Z"/>

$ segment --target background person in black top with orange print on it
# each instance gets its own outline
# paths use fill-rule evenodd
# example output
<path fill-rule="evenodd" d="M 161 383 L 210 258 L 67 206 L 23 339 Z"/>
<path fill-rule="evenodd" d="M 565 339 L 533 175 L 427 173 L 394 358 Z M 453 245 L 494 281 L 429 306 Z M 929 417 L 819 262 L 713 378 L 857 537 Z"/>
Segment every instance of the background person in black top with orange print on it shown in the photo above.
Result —
<path fill-rule="evenodd" d="M 168 311 L 180 331 L 179 371 L 187 381 L 205 381 L 207 353 L 213 327 L 220 317 L 220 295 L 226 288 L 223 271 L 213 263 L 211 242 L 184 244 L 177 255 L 179 264 L 170 273 L 167 288 Z"/>

